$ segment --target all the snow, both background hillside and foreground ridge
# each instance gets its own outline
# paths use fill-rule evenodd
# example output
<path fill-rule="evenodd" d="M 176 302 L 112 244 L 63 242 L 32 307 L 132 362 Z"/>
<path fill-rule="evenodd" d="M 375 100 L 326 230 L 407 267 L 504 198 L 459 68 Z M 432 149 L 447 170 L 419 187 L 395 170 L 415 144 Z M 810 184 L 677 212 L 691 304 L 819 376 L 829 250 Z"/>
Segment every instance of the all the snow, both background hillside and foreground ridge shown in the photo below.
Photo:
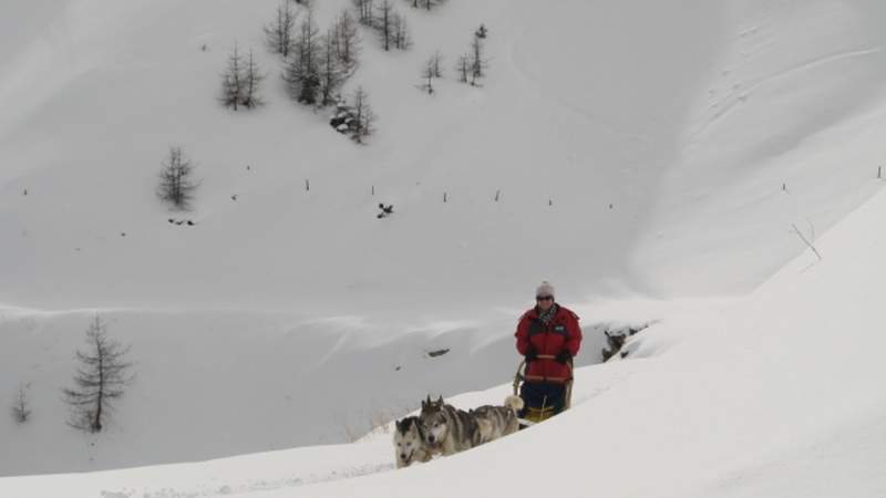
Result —
<path fill-rule="evenodd" d="M 886 495 L 886 4 L 398 2 L 415 45 L 363 32 L 359 147 L 285 95 L 276 3 L 0 6 L 0 401 L 34 408 L 0 419 L 0 476 L 255 454 L 0 496 Z M 316 3 L 323 28 L 349 4 Z M 419 91 L 481 22 L 483 86 Z M 235 41 L 255 112 L 216 101 Z M 154 196 L 173 144 L 195 227 Z M 403 471 L 388 435 L 341 444 L 427 393 L 501 401 L 542 279 L 586 326 L 573 411 Z M 137 377 L 84 436 L 60 390 L 96 311 Z M 651 321 L 596 365 L 602 325 Z"/>

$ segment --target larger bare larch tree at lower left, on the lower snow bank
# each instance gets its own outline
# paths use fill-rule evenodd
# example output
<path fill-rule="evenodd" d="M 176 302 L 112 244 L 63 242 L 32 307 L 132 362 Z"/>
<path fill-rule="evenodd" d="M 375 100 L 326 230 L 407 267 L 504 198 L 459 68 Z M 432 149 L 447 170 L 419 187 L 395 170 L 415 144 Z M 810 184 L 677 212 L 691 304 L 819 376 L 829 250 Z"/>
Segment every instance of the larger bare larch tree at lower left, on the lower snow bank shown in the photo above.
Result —
<path fill-rule="evenodd" d="M 97 433 L 102 430 L 114 402 L 123 396 L 123 387 L 132 376 L 132 363 L 124 360 L 130 347 L 109 339 L 107 326 L 96 315 L 86 330 L 86 352 L 76 351 L 80 366 L 74 375 L 74 387 L 63 391 L 71 406 L 72 427 Z"/>

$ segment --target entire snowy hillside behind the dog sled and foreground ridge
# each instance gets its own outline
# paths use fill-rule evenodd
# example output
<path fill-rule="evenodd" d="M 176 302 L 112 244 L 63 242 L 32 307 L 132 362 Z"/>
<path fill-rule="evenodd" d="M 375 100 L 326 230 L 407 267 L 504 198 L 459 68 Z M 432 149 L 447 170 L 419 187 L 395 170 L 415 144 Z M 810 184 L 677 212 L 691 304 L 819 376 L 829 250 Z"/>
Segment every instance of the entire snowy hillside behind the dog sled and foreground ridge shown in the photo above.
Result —
<path fill-rule="evenodd" d="M 348 2 L 317 3 L 324 28 Z M 0 396 L 33 382 L 41 408 L 0 424 L 0 474 L 341 440 L 429 391 L 507 378 L 542 279 L 585 323 L 664 318 L 673 295 L 755 288 L 805 249 L 792 225 L 821 235 L 883 185 L 877 0 L 403 2 L 415 46 L 364 32 L 350 83 L 380 115 L 365 147 L 286 97 L 262 48 L 275 6 L 0 4 Z M 483 86 L 415 89 L 481 22 Z M 269 75 L 256 112 L 216 102 L 235 41 Z M 173 144 L 203 183 L 172 216 L 195 227 L 154 196 Z M 380 201 L 395 215 L 375 219 Z M 142 369 L 97 449 L 58 396 L 93 309 Z"/>

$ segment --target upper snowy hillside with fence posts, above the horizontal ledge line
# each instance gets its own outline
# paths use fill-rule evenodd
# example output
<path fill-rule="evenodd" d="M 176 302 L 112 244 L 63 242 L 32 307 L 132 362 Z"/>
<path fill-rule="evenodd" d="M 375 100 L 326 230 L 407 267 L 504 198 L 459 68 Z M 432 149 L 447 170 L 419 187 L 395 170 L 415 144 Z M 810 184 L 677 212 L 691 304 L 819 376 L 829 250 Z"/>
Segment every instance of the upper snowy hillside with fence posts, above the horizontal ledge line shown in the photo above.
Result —
<path fill-rule="evenodd" d="M 318 3 L 326 27 L 348 2 Z M 822 232 L 874 188 L 877 1 L 400 4 L 414 49 L 364 32 L 351 81 L 380 115 L 368 147 L 285 96 L 262 49 L 275 4 L 4 2 L 29 28 L 0 52 L 0 302 L 462 313 L 542 278 L 738 292 L 801 249 L 789 220 Z M 418 91 L 481 22 L 483 87 Z M 215 100 L 235 41 L 269 74 L 254 113 Z M 203 179 L 197 227 L 154 197 L 173 144 Z"/>

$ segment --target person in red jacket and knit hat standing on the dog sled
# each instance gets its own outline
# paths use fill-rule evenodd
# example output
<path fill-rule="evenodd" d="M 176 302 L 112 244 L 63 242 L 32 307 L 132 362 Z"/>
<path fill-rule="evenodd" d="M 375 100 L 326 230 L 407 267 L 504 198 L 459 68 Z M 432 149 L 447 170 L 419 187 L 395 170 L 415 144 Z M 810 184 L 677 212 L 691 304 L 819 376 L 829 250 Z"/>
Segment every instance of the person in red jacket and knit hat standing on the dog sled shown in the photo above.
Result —
<path fill-rule="evenodd" d="M 521 317 L 514 334 L 517 351 L 526 356 L 527 365 L 519 393 L 525 407 L 519 415 L 540 415 L 544 419 L 548 413 L 556 415 L 564 408 L 566 382 L 573 375 L 570 360 L 581 346 L 581 328 L 575 313 L 554 302 L 550 283 L 538 286 L 535 301 L 535 308 Z"/>

